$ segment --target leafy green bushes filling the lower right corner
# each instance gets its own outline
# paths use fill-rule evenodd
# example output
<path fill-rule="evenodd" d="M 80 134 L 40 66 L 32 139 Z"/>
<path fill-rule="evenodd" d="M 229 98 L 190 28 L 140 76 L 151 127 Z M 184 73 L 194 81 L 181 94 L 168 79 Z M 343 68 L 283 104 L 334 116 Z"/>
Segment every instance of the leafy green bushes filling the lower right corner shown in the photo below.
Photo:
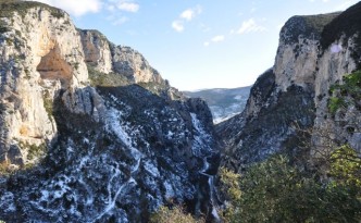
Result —
<path fill-rule="evenodd" d="M 338 161 L 335 162 L 338 168 L 331 173 L 348 166 L 352 166 L 349 169 L 352 173 L 357 172 L 356 165 L 345 159 Z M 228 184 L 229 181 L 224 181 L 227 177 L 222 176 L 225 173 L 221 172 L 221 181 Z M 228 191 L 239 189 L 240 196 L 229 196 L 233 200 L 225 219 L 227 222 L 358 222 L 361 188 L 353 183 L 344 184 L 346 178 L 337 176 L 337 181 L 325 181 L 318 173 L 291 166 L 286 157 L 270 158 L 249 168 L 239 176 L 239 184 L 231 181 Z M 347 177 L 354 179 L 356 175 Z M 237 185 L 238 188 L 233 188 Z"/>

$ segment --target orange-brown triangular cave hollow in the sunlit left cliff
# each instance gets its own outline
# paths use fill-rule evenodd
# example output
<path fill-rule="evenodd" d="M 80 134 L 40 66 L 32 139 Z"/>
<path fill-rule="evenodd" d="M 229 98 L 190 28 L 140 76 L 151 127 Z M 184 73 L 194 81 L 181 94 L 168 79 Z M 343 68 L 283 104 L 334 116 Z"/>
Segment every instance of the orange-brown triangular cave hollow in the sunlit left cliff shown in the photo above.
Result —
<path fill-rule="evenodd" d="M 59 79 L 62 87 L 66 87 L 72 79 L 72 66 L 62 58 L 58 45 L 41 58 L 36 70 L 43 79 Z"/>

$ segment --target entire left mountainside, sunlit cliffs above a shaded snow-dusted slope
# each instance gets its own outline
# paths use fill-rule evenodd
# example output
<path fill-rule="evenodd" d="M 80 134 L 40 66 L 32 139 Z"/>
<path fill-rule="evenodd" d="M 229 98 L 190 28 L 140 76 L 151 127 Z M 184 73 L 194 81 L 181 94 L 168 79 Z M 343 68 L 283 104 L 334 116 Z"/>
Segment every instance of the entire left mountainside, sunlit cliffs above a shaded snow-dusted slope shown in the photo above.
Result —
<path fill-rule="evenodd" d="M 1 220 L 147 222 L 180 202 L 215 218 L 220 154 L 204 101 L 61 10 L 0 9 Z M 90 71 L 126 82 L 90 86 Z"/>

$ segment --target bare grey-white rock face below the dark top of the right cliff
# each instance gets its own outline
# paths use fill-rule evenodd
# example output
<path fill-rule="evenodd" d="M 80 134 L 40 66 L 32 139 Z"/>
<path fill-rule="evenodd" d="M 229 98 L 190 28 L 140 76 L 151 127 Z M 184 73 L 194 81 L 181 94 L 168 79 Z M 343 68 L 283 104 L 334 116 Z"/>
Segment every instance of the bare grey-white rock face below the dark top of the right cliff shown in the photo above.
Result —
<path fill-rule="evenodd" d="M 320 39 L 304 38 L 302 35 L 298 37 L 297 42 L 289 42 L 289 39 L 285 36 L 286 32 L 281 34 L 278 53 L 274 65 L 278 90 L 286 91 L 291 85 L 309 88 L 314 94 L 314 129 L 319 134 L 320 132 L 327 133 L 332 138 L 347 139 L 357 148 L 354 141 L 360 139 L 354 135 L 349 136 L 339 126 L 341 120 L 352 119 L 352 112 L 348 111 L 344 117 L 338 117 L 335 121 L 329 119 L 331 114 L 327 108 L 329 88 L 336 83 L 343 83 L 343 77 L 357 69 L 357 63 L 351 57 L 356 49 L 354 39 L 358 37 L 357 34 L 347 39 L 344 35 L 327 49 L 322 49 Z M 354 113 L 357 112 L 353 112 L 353 115 Z M 358 123 L 358 121 L 354 123 Z M 327 140 L 329 138 L 324 136 L 314 135 L 313 137 L 315 145 L 326 145 L 328 144 Z"/>

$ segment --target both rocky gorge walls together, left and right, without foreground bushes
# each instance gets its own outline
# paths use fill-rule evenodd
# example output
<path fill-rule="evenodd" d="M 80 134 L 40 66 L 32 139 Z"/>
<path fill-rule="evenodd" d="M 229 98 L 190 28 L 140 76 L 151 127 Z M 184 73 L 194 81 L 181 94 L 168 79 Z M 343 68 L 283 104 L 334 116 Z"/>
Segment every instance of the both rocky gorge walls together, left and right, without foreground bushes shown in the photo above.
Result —
<path fill-rule="evenodd" d="M 0 10 L 5 222 L 148 222 L 173 205 L 220 222 L 220 166 L 298 157 L 300 140 L 324 143 L 312 129 L 361 152 L 360 101 L 329 110 L 329 89 L 361 69 L 361 3 L 289 18 L 245 110 L 216 125 L 141 53 L 76 28 L 66 12 L 8 0 Z"/>

